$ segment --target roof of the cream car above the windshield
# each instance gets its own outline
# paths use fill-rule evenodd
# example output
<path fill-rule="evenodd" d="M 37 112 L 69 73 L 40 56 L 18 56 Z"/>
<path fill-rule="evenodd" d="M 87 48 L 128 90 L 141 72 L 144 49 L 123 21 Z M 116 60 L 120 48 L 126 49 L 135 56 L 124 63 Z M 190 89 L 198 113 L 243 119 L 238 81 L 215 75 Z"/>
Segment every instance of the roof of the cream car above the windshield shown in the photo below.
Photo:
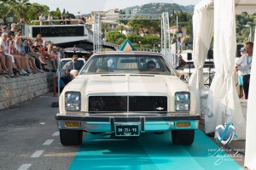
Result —
<path fill-rule="evenodd" d="M 148 52 L 148 51 L 106 51 L 106 52 L 96 52 L 93 55 L 102 55 L 102 54 L 147 54 L 147 55 L 161 55 L 156 52 Z"/>

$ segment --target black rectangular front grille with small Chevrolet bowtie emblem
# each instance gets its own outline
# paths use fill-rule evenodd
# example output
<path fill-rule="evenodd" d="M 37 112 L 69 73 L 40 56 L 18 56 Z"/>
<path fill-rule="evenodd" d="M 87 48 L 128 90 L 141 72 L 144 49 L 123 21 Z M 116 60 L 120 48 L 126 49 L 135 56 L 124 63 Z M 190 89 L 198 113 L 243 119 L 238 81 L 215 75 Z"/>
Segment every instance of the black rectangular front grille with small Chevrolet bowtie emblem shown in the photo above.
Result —
<path fill-rule="evenodd" d="M 166 112 L 166 96 L 90 96 L 89 112 Z"/>

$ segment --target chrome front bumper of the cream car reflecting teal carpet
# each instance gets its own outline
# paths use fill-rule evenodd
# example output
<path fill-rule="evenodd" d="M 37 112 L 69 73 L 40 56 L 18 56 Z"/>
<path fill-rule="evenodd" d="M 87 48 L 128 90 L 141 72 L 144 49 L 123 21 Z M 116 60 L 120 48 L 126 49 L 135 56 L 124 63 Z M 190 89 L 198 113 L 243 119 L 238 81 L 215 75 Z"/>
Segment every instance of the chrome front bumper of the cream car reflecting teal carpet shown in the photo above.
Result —
<path fill-rule="evenodd" d="M 85 130 L 91 133 L 114 133 L 117 124 L 138 124 L 141 133 L 177 129 L 198 129 L 199 115 L 179 116 L 81 116 L 56 114 L 59 129 Z M 67 127 L 66 122 L 79 122 L 79 127 Z M 177 122 L 189 122 L 189 127 L 177 127 Z"/>

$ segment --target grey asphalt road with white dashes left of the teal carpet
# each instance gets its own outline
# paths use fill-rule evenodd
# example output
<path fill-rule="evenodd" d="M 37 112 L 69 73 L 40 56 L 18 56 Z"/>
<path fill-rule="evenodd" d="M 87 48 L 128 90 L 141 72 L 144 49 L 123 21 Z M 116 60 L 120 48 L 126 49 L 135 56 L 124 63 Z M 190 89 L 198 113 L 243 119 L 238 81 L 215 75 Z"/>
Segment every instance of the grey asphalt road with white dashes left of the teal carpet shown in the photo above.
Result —
<path fill-rule="evenodd" d="M 59 139 L 51 103 L 47 94 L 14 108 L 0 111 L 1 170 L 64 170 L 69 167 L 79 146 L 64 147 Z"/>

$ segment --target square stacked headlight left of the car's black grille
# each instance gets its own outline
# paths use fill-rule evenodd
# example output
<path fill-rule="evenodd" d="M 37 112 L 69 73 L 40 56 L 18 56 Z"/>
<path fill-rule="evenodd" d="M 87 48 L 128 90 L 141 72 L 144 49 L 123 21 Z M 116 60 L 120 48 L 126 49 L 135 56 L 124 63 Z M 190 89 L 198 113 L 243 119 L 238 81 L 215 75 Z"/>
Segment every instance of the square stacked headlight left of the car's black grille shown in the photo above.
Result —
<path fill-rule="evenodd" d="M 79 92 L 66 92 L 65 108 L 66 111 L 80 111 L 81 97 Z"/>

